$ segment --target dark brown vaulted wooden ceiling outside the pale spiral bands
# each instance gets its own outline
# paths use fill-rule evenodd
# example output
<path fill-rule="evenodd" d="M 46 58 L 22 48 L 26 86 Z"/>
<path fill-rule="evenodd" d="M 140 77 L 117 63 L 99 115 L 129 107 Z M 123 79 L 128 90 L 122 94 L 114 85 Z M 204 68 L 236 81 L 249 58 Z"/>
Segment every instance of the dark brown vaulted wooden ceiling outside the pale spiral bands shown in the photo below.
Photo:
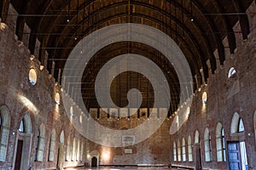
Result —
<path fill-rule="evenodd" d="M 49 71 L 52 69 L 52 61 L 55 61 L 55 70 L 63 69 L 68 55 L 79 40 L 102 27 L 119 23 L 153 26 L 172 37 L 182 49 L 192 75 L 197 77 L 195 78 L 197 80 L 194 79 L 198 82 L 194 87 L 197 88 L 203 81 L 202 77 L 207 80 L 208 75 L 216 70 L 218 62 L 220 65 L 224 64 L 224 48 L 226 48 L 222 43 L 224 37 L 228 38 L 230 53 L 234 53 L 236 49 L 236 33 L 241 33 L 244 39 L 247 38 L 250 28 L 246 9 L 252 2 L 253 0 L 4 0 L 1 3 L 1 14 L 3 21 L 6 20 L 6 8 L 9 3 L 13 4 L 19 13 L 17 36 L 20 40 L 22 39 L 26 22 L 32 30 L 29 48 L 33 53 L 38 38 L 41 42 L 38 58 L 44 63 L 45 50 L 48 52 Z M 232 27 L 238 20 L 241 32 L 234 32 Z M 216 49 L 218 49 L 218 59 L 213 55 Z M 91 82 L 91 84 L 81 91 L 84 94 L 86 106 L 96 107 L 93 80 L 97 71 L 109 59 L 126 53 L 142 54 L 160 65 L 170 84 L 172 111 L 175 111 L 180 88 L 172 64 L 166 62 L 165 56 L 156 49 L 138 42 L 111 44 L 102 48 L 90 60 L 84 71 L 84 82 Z M 97 62 L 99 60 L 101 62 Z M 207 65 L 207 60 L 210 60 L 210 65 Z M 163 63 L 166 64 L 163 65 Z M 204 75 L 201 75 L 201 69 Z M 89 71 L 91 71 L 90 75 L 87 74 Z M 113 94 L 116 96 L 113 100 L 118 105 L 125 104 L 125 98 L 120 96 L 131 87 L 140 88 L 145 94 L 143 106 L 150 105 L 151 99 L 148 96 L 154 95 L 151 93 L 150 85 L 141 75 L 136 74 L 126 72 L 119 76 L 119 81 L 113 83 L 115 89 L 119 89 L 113 91 L 113 93 L 119 93 L 119 95 Z M 57 77 L 57 71 L 55 71 L 55 78 Z M 135 78 L 130 80 L 131 77 Z M 133 84 L 131 87 L 127 86 L 122 90 L 118 88 L 121 83 L 128 84 L 128 80 Z M 134 85 L 138 80 L 142 81 L 140 86 Z"/>

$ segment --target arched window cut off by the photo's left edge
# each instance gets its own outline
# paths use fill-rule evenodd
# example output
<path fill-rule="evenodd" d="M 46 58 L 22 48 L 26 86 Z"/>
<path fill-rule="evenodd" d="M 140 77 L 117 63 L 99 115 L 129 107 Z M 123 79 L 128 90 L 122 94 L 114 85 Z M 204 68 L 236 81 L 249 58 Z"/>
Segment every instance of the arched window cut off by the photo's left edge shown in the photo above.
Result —
<path fill-rule="evenodd" d="M 5 161 L 9 139 L 9 110 L 3 105 L 0 107 L 0 161 Z"/>

